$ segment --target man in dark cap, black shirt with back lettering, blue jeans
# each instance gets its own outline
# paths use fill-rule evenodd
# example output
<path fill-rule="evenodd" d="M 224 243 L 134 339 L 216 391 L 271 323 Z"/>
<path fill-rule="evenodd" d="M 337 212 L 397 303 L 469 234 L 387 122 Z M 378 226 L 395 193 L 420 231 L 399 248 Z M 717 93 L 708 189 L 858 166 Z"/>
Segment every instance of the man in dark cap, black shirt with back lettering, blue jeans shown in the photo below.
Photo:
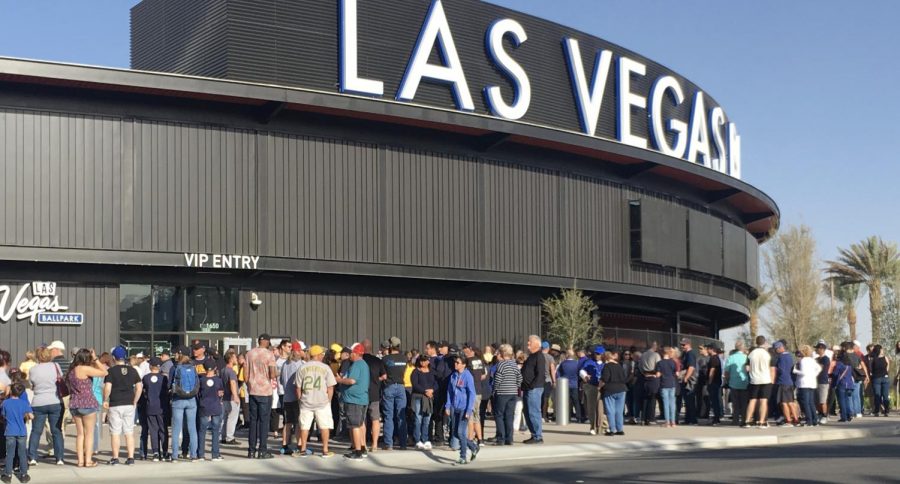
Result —
<path fill-rule="evenodd" d="M 381 396 L 384 408 L 384 448 L 392 450 L 396 438 L 400 449 L 406 450 L 406 388 L 403 386 L 406 356 L 400 353 L 400 338 L 392 336 L 388 345 L 388 354 L 381 359 L 387 373 Z"/>

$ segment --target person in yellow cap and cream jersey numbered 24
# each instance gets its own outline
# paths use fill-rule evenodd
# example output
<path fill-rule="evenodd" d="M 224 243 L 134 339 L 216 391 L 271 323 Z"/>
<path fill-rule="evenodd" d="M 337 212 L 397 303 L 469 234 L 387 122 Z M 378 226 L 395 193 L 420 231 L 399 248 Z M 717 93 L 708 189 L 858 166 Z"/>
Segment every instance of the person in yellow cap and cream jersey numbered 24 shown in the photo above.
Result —
<path fill-rule="evenodd" d="M 312 428 L 313 418 L 319 427 L 320 440 L 322 441 L 322 458 L 327 459 L 334 455 L 334 452 L 328 450 L 328 437 L 331 430 L 334 429 L 334 417 L 331 415 L 331 399 L 334 398 L 334 387 L 337 386 L 337 379 L 334 372 L 323 361 L 325 359 L 325 348 L 319 345 L 313 345 L 309 349 L 310 360 L 301 366 L 294 376 L 294 384 L 285 387 L 285 395 L 287 391 L 294 392 L 294 396 L 299 402 L 300 430 L 297 440 L 300 442 L 300 449 L 297 453 L 300 457 L 312 455 L 312 451 L 307 447 L 309 442 L 309 430 Z"/>

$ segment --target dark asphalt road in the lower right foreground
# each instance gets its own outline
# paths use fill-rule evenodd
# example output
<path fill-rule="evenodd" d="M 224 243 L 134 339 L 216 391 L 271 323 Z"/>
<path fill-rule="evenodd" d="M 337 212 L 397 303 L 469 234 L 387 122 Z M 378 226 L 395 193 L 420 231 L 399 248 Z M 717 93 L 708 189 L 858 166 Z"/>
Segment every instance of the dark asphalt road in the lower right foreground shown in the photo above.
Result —
<path fill-rule="evenodd" d="M 665 453 L 635 458 L 598 457 L 567 461 L 564 456 L 518 465 L 490 467 L 477 460 L 447 471 L 392 475 L 391 483 L 542 482 L 580 484 L 600 481 L 668 482 L 898 482 L 900 438 L 783 445 L 777 448 Z M 331 481 L 333 482 L 333 481 Z M 385 476 L 356 477 L 354 482 L 385 482 Z"/>

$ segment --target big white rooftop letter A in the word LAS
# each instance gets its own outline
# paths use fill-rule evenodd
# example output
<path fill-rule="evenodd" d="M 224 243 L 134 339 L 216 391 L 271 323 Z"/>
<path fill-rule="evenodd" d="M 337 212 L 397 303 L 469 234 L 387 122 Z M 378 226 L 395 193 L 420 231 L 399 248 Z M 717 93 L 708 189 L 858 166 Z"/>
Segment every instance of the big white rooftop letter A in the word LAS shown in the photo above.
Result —
<path fill-rule="evenodd" d="M 435 42 L 440 47 L 444 65 L 428 63 L 428 57 L 434 50 Z M 441 0 L 435 0 L 431 4 L 428 16 L 425 17 L 425 25 L 422 26 L 419 40 L 416 41 L 409 66 L 403 75 L 403 81 L 400 82 L 397 100 L 412 101 L 416 97 L 416 91 L 423 78 L 450 84 L 456 107 L 464 111 L 475 110 L 475 103 L 472 101 L 472 94 L 466 83 L 466 76 L 463 73 L 462 63 L 459 61 L 459 54 L 456 52 L 456 44 L 453 43 L 450 25 L 447 23 L 447 15 L 444 13 Z"/>

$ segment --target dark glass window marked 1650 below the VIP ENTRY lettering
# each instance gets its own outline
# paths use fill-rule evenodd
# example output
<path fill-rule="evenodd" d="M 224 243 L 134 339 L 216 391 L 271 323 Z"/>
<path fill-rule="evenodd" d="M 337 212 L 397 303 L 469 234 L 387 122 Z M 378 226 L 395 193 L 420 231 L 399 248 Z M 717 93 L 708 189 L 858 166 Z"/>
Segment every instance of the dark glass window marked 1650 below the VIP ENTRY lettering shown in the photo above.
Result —
<path fill-rule="evenodd" d="M 227 287 L 190 287 L 187 330 L 204 333 L 238 332 L 238 290 Z"/>

